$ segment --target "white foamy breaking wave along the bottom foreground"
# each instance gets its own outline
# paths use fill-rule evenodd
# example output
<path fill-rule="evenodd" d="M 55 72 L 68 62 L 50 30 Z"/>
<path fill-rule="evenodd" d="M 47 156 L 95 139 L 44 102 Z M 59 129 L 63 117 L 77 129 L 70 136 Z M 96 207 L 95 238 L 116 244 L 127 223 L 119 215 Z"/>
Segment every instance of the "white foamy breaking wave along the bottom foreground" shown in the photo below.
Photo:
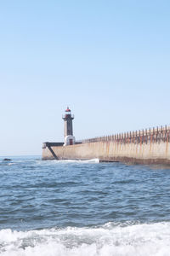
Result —
<path fill-rule="evenodd" d="M 167 256 L 170 223 L 105 224 L 98 228 L 0 230 L 2 256 Z"/>

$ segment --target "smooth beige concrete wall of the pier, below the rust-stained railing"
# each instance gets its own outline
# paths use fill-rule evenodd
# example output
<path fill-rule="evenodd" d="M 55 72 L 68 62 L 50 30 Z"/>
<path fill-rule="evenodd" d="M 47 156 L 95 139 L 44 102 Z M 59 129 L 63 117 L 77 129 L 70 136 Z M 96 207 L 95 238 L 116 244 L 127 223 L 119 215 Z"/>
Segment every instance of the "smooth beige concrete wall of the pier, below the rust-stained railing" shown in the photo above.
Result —
<path fill-rule="evenodd" d="M 65 147 L 51 147 L 59 160 L 124 161 L 130 163 L 170 164 L 170 143 L 122 144 L 115 142 L 84 143 Z M 42 159 L 54 159 L 47 148 L 42 148 Z"/>

